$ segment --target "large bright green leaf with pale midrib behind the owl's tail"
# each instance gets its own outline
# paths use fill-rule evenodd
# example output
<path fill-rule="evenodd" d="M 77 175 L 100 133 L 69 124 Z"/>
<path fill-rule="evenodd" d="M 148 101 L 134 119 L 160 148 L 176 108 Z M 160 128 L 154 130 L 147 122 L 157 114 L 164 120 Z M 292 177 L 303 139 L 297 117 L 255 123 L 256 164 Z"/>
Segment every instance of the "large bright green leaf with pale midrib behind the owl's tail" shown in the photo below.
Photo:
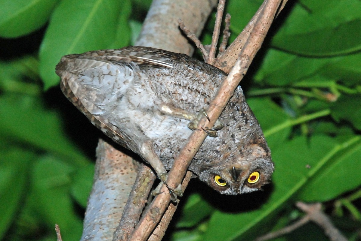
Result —
<path fill-rule="evenodd" d="M 105 49 L 114 43 L 122 5 L 118 0 L 60 2 L 51 17 L 39 53 L 40 76 L 45 89 L 58 84 L 55 66 L 63 55 Z"/>

